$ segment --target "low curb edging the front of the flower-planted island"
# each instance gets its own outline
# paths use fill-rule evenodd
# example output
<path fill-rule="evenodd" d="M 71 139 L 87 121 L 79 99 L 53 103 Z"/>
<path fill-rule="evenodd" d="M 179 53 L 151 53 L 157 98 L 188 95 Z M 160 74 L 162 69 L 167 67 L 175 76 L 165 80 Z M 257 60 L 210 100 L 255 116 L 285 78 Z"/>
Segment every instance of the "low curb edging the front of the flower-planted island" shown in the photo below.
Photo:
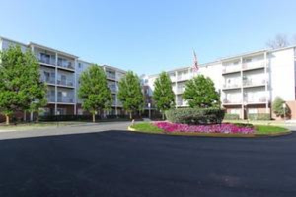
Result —
<path fill-rule="evenodd" d="M 247 137 L 247 138 L 257 138 L 257 137 L 278 137 L 278 136 L 284 136 L 289 135 L 292 133 L 292 131 L 287 132 L 275 132 L 275 133 L 269 133 L 269 134 L 225 134 L 225 133 L 185 133 L 185 132 L 178 132 L 178 133 L 149 133 L 145 131 L 138 131 L 132 126 L 128 126 L 128 131 L 134 131 L 139 133 L 146 133 L 146 134 L 157 134 L 157 135 L 173 135 L 173 136 L 196 136 L 196 137 Z"/>

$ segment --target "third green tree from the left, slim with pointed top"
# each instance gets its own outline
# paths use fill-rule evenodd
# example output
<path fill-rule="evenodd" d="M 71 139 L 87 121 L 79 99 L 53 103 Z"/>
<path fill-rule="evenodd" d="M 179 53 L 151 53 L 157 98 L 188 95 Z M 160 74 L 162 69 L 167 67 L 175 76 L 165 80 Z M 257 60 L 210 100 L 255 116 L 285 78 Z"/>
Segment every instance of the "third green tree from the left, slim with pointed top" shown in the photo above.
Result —
<path fill-rule="evenodd" d="M 144 96 L 142 94 L 140 79 L 132 71 L 119 81 L 118 99 L 122 102 L 123 108 L 129 112 L 130 119 L 132 113 L 142 110 L 144 107 Z"/>

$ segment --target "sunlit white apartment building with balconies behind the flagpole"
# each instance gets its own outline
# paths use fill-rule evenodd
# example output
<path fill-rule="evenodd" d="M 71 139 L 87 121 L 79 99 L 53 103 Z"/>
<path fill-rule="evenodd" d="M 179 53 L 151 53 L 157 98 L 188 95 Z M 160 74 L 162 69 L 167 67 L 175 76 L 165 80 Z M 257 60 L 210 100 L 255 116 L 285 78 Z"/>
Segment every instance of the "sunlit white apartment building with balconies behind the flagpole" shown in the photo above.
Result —
<path fill-rule="evenodd" d="M 222 106 L 227 113 L 246 119 L 249 113 L 272 114 L 275 97 L 284 99 L 296 118 L 296 47 L 276 50 L 259 50 L 222 58 L 199 66 L 167 71 L 176 96 L 177 107 L 186 107 L 182 98 L 185 83 L 198 74 L 210 77 L 221 94 Z M 158 74 L 144 76 L 145 85 L 154 90 Z"/>

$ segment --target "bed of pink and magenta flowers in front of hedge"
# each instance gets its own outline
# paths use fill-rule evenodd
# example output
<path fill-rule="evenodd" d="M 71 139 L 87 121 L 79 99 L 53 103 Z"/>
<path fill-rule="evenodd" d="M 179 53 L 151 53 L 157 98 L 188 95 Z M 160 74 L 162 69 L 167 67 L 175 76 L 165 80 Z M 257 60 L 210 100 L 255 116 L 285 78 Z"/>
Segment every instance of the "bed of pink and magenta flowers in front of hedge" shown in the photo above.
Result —
<path fill-rule="evenodd" d="M 238 126 L 231 123 L 212 124 L 212 125 L 187 125 L 170 122 L 154 122 L 153 125 L 166 132 L 189 132 L 189 133 L 254 133 L 253 127 Z"/>

